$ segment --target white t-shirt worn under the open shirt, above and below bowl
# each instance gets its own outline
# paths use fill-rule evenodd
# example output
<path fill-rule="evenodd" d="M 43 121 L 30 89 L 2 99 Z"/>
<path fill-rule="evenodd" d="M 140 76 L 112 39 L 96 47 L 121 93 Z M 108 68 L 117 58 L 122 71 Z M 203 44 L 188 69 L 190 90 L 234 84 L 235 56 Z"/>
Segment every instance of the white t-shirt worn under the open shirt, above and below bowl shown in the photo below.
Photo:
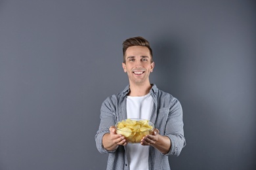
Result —
<path fill-rule="evenodd" d="M 127 96 L 127 118 L 142 118 L 150 120 L 153 107 L 153 97 L 148 93 L 140 97 Z M 149 146 L 140 143 L 128 143 L 126 146 L 130 170 L 148 170 Z"/>

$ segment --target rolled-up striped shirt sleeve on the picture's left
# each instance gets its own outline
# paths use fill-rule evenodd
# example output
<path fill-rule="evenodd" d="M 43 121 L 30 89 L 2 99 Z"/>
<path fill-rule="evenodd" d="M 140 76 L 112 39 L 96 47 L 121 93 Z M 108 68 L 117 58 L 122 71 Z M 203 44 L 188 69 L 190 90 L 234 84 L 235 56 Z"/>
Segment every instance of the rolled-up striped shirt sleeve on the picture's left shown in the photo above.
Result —
<path fill-rule="evenodd" d="M 108 97 L 102 103 L 102 106 L 100 109 L 100 126 L 98 127 L 98 131 L 96 132 L 96 135 L 95 135 L 96 148 L 98 149 L 98 152 L 100 152 L 101 154 L 116 151 L 116 150 L 113 150 L 113 151 L 106 150 L 102 144 L 102 137 L 106 133 L 110 133 L 109 131 L 110 126 L 115 126 L 116 124 L 115 114 L 116 114 L 116 107 L 114 105 L 114 102 L 110 97 Z"/>

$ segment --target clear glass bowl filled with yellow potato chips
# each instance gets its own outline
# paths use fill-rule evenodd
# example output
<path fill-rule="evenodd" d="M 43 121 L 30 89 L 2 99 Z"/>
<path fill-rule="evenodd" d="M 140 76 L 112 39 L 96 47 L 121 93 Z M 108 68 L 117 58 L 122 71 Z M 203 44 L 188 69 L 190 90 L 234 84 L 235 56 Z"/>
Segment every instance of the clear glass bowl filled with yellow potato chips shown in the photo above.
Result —
<path fill-rule="evenodd" d="M 116 123 L 116 133 L 129 143 L 140 143 L 142 137 L 151 135 L 153 130 L 154 124 L 146 119 L 128 118 Z"/>

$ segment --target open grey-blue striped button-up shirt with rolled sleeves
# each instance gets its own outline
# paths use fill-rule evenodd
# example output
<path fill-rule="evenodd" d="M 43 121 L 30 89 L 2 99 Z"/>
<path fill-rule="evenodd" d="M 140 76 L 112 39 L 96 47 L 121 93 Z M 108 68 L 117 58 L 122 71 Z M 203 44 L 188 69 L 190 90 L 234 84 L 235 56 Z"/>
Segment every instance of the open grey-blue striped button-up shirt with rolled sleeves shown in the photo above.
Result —
<path fill-rule="evenodd" d="M 123 92 L 108 97 L 100 109 L 100 126 L 95 135 L 96 148 L 102 154 L 108 153 L 107 170 L 129 169 L 125 146 L 119 145 L 116 150 L 108 151 L 102 146 L 102 137 L 110 133 L 109 127 L 116 122 L 127 118 L 126 99 L 129 86 Z M 153 146 L 149 147 L 148 167 L 152 169 L 170 169 L 168 156 L 179 156 L 186 145 L 183 131 L 181 103 L 171 94 L 159 90 L 153 84 L 150 95 L 154 99 L 154 105 L 150 121 L 159 129 L 160 135 L 165 135 L 171 140 L 171 149 L 167 154 L 162 154 Z"/>

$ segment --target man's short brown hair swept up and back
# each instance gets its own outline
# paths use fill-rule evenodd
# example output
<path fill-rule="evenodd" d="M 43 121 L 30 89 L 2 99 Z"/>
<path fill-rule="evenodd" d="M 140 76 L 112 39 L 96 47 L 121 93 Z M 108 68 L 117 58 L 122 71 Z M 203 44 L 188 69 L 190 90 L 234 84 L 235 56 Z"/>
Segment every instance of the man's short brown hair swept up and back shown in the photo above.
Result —
<path fill-rule="evenodd" d="M 123 63 L 125 63 L 125 52 L 130 46 L 146 46 L 150 50 L 150 62 L 153 62 L 153 52 L 150 48 L 150 43 L 143 37 L 133 37 L 123 41 Z"/>

